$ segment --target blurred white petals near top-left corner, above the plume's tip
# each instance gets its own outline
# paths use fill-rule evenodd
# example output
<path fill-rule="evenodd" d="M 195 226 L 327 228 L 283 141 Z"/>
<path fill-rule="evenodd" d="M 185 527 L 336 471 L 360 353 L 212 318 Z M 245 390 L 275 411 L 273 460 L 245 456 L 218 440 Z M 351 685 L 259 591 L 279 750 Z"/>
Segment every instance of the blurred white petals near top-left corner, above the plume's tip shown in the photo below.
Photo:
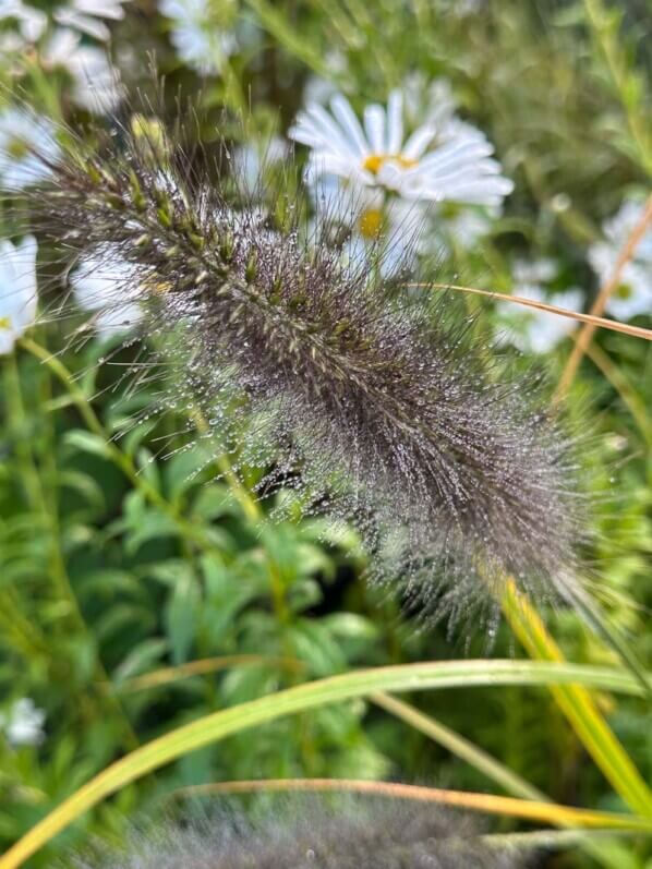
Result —
<path fill-rule="evenodd" d="M 104 48 L 83 45 L 82 37 L 69 27 L 58 27 L 41 51 L 44 65 L 60 67 L 73 80 L 72 100 L 95 113 L 105 113 L 120 101 L 118 71 Z"/>

